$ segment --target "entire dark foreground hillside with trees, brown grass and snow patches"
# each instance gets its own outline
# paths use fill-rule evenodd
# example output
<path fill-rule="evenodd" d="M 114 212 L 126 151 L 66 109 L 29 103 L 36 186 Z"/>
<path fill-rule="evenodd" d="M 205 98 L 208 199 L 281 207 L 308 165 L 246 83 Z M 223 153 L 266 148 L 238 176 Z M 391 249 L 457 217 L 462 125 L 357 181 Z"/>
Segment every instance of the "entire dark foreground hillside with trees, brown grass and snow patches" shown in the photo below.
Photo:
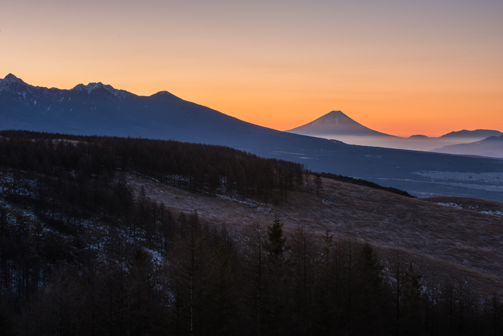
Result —
<path fill-rule="evenodd" d="M 44 136 L 0 139 L 4 333 L 503 332 L 500 216 L 227 147 Z"/>

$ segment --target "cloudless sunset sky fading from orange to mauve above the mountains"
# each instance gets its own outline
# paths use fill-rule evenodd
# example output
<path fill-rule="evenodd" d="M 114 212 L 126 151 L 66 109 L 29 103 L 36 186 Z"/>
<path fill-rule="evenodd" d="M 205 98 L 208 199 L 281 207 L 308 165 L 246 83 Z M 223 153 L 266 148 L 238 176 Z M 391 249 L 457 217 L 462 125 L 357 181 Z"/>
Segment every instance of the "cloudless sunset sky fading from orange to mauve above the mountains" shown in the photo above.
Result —
<path fill-rule="evenodd" d="M 169 91 L 285 130 L 503 131 L 503 1 L 0 0 L 0 76 Z"/>

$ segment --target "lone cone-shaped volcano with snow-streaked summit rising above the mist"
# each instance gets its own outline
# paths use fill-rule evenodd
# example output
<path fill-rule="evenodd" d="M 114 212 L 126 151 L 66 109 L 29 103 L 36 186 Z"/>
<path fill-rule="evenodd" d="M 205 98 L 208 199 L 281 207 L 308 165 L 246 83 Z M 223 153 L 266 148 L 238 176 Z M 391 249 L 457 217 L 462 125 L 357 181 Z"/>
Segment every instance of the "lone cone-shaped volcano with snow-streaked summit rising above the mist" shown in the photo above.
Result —
<path fill-rule="evenodd" d="M 313 136 L 393 136 L 365 127 L 341 111 L 331 111 L 310 123 L 285 132 Z"/>

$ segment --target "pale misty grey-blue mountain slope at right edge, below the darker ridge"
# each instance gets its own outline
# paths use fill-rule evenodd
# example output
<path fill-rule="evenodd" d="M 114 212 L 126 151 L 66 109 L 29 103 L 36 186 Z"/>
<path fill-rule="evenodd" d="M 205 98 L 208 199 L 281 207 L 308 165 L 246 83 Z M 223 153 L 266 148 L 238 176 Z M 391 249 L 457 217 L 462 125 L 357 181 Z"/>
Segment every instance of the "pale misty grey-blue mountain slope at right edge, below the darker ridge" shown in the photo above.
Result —
<path fill-rule="evenodd" d="M 489 136 L 483 140 L 443 146 L 432 150 L 437 153 L 503 157 L 503 135 Z"/>

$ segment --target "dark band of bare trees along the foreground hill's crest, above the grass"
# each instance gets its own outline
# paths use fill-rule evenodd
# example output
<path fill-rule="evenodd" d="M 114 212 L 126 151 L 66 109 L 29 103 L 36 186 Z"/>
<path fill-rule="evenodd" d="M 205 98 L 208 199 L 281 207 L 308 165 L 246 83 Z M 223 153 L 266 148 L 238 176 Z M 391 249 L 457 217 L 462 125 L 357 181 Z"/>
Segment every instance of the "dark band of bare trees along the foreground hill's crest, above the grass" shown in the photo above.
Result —
<path fill-rule="evenodd" d="M 6 138 L 2 141 L 6 155 L 3 164 L 10 166 L 18 164 L 23 170 L 33 170 L 35 166 L 43 165 L 44 158 L 40 157 L 40 154 L 38 156 L 34 154 L 34 151 L 42 150 L 51 152 L 52 156 L 47 160 L 54 157 L 54 160 L 48 163 L 65 164 L 65 170 L 76 170 L 81 159 L 91 160 L 88 165 L 98 164 L 107 169 L 112 167 L 126 169 L 160 182 L 176 183 L 193 191 L 200 190 L 214 194 L 217 189 L 224 188 L 231 197 L 235 193 L 241 198 L 248 197 L 265 202 L 271 200 L 275 190 L 279 192 L 280 202 L 288 199 L 288 192 L 294 189 L 319 193 L 321 184 L 319 176 L 412 197 L 396 188 L 382 187 L 373 182 L 330 173 L 313 173 L 300 163 L 262 158 L 226 146 L 25 130 L 3 130 L 0 131 L 0 137 Z M 29 146 L 26 140 L 30 140 Z M 80 145 L 74 146 L 78 148 L 60 144 L 53 148 L 35 149 L 31 143 L 37 142 L 36 140 L 39 140 L 39 146 L 43 142 L 40 140 L 58 140 L 57 142 L 70 140 L 72 144 L 77 142 Z M 96 154 L 98 147 L 100 153 Z M 88 157 L 83 157 L 84 154 Z M 62 160 L 61 155 L 65 160 Z M 38 163 L 33 161 L 35 159 L 38 159 Z"/>

